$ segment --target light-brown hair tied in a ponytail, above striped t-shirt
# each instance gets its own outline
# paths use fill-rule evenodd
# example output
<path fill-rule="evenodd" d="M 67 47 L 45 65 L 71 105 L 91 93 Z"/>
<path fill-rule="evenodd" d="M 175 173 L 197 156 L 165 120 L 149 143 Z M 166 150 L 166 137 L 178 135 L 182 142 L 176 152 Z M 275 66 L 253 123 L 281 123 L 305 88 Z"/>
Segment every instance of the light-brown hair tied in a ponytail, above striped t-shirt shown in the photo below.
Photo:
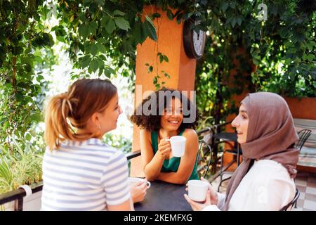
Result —
<path fill-rule="evenodd" d="M 65 139 L 84 141 L 92 133 L 76 134 L 74 128 L 86 127 L 88 119 L 107 105 L 117 93 L 108 80 L 80 79 L 70 89 L 53 96 L 46 107 L 45 140 L 50 150 L 58 149 Z"/>

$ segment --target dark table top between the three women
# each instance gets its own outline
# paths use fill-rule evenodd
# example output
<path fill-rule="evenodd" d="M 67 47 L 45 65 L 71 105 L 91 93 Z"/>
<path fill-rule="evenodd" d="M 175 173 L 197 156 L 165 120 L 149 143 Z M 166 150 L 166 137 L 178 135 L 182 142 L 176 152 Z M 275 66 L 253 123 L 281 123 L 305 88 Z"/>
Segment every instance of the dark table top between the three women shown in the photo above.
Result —
<path fill-rule="evenodd" d="M 147 189 L 145 199 L 135 203 L 136 211 L 192 211 L 183 194 L 185 185 L 169 184 L 163 181 L 152 181 Z"/>

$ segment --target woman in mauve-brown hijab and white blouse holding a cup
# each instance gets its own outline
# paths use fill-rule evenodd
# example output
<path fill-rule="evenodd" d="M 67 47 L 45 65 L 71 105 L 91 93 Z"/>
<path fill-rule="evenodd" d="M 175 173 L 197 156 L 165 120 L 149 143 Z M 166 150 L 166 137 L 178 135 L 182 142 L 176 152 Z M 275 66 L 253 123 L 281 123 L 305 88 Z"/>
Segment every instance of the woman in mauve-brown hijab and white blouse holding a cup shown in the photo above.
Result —
<path fill-rule="evenodd" d="M 242 146 L 243 162 L 230 179 L 226 194 L 209 185 L 204 203 L 185 194 L 193 210 L 280 210 L 294 198 L 298 135 L 284 98 L 249 94 L 232 121 Z"/>

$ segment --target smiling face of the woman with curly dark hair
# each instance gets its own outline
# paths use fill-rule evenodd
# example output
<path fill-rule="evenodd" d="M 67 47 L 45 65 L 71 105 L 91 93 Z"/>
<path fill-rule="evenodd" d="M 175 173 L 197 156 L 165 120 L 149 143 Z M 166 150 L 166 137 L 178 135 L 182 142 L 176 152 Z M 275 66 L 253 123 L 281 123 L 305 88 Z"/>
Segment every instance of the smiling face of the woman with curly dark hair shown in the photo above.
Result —
<path fill-rule="evenodd" d="M 162 129 L 177 131 L 183 122 L 182 103 L 178 98 L 172 98 L 169 105 L 164 109 L 164 115 L 160 119 Z"/>

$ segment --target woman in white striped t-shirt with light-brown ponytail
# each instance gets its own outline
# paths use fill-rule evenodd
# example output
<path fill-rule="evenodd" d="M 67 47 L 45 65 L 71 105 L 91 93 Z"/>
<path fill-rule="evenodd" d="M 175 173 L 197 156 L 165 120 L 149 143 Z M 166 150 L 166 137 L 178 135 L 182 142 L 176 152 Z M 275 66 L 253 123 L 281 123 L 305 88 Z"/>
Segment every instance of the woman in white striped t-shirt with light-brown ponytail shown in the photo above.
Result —
<path fill-rule="evenodd" d="M 125 155 L 100 140 L 121 113 L 108 80 L 79 79 L 51 98 L 41 210 L 133 210 L 131 198 L 143 199 L 147 181 L 130 191 Z"/>

